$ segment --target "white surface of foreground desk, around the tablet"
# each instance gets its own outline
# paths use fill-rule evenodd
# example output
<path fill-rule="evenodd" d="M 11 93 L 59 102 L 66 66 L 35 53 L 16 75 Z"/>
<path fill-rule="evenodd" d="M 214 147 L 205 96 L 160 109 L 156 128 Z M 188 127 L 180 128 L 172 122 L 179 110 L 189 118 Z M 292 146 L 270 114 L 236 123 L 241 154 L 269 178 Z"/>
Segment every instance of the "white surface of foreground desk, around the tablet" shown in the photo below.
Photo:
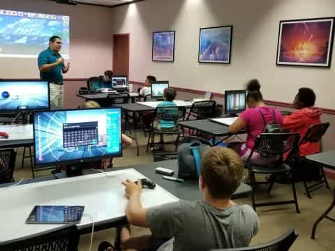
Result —
<path fill-rule="evenodd" d="M 121 181 L 145 178 L 135 169 L 62 178 L 27 185 L 0 188 L 0 222 L 5 227 L 0 241 L 22 238 L 59 225 L 26 225 L 24 222 L 36 205 L 83 205 L 84 216 L 78 228 L 91 227 L 94 223 L 124 218 L 127 199 Z M 156 185 L 154 190 L 143 189 L 144 207 L 158 206 L 178 201 L 177 197 Z M 90 216 L 90 217 L 89 217 Z"/>

